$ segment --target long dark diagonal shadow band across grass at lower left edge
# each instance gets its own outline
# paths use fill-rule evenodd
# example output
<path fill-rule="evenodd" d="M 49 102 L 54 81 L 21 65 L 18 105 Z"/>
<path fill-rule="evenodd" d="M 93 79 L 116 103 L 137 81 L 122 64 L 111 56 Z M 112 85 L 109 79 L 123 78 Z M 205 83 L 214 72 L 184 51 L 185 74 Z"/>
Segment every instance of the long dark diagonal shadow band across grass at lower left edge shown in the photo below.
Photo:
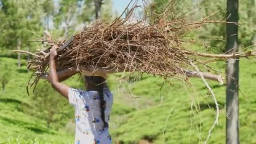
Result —
<path fill-rule="evenodd" d="M 48 129 L 46 128 L 42 128 L 40 126 L 35 125 L 35 127 L 31 126 L 33 125 L 32 123 L 27 123 L 21 120 L 14 120 L 11 118 L 7 118 L 7 117 L 2 117 L 0 116 L 0 120 L 3 120 L 7 123 L 13 124 L 13 125 L 19 125 L 19 127 L 23 127 L 23 128 L 27 128 L 30 131 L 33 131 L 35 133 L 49 133 L 49 134 L 54 134 L 51 131 L 48 131 Z"/>

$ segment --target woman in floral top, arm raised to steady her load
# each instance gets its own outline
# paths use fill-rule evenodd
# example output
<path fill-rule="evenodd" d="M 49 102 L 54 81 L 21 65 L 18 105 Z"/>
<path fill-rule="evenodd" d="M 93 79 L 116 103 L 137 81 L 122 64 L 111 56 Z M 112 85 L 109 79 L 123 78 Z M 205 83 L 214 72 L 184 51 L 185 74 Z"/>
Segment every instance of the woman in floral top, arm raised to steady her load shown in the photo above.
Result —
<path fill-rule="evenodd" d="M 50 51 L 50 72 L 48 80 L 52 87 L 69 100 L 75 107 L 75 144 L 111 144 L 108 121 L 113 104 L 113 96 L 107 88 L 106 75 L 84 76 L 87 91 L 77 90 L 60 83 L 76 74 L 70 70 L 58 75 L 54 58 L 56 47 Z"/>

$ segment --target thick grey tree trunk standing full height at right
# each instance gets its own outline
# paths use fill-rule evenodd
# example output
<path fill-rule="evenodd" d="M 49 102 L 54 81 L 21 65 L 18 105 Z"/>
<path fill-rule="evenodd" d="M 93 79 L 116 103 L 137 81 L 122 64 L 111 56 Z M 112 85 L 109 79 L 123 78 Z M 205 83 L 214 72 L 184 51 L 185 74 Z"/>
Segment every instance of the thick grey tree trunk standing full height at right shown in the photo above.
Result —
<path fill-rule="evenodd" d="M 238 0 L 227 0 L 227 21 L 238 22 Z M 238 26 L 227 24 L 227 53 L 238 51 Z M 239 58 L 226 62 L 226 144 L 239 144 Z"/>

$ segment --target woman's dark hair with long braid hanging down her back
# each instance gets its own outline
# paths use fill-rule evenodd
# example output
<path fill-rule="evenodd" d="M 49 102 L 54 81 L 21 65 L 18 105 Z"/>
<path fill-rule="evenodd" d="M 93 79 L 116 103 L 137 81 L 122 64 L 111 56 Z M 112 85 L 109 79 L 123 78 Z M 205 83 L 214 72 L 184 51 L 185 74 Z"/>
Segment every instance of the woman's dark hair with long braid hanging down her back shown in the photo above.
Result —
<path fill-rule="evenodd" d="M 104 123 L 104 128 L 108 127 L 108 123 L 105 121 L 105 108 L 106 108 L 106 101 L 104 100 L 103 89 L 107 86 L 106 80 L 104 77 L 99 76 L 84 76 L 86 83 L 93 85 L 96 88 L 96 91 L 99 93 L 99 100 L 100 100 L 100 108 L 101 108 L 101 120 Z"/>

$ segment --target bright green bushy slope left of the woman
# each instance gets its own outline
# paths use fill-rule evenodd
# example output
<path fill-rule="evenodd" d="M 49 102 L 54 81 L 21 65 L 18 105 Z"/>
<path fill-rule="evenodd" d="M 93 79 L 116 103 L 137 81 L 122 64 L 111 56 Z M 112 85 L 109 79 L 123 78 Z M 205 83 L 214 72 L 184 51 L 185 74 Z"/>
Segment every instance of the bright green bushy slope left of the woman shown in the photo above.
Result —
<path fill-rule="evenodd" d="M 15 67 L 17 60 L 2 56 L 0 61 L 0 74 L 2 74 L 5 63 Z M 44 115 L 37 117 L 41 111 L 35 107 L 33 96 L 27 95 L 26 85 L 31 73 L 27 73 L 27 67 L 24 64 L 21 65 L 20 69 L 12 69 L 12 72 L 12 78 L 6 85 L 5 95 L 1 97 L 0 102 L 0 144 L 19 143 L 16 142 L 18 137 L 20 137 L 18 140 L 21 144 L 29 143 L 35 139 L 40 141 L 40 144 L 72 144 L 74 142 L 73 134 L 54 130 L 64 127 L 73 117 L 74 110 L 72 107 L 68 103 L 66 103 L 67 106 L 61 106 L 66 107 L 67 112 L 65 113 L 69 113 L 69 115 L 62 115 L 63 119 L 54 121 L 50 128 L 47 128 L 45 118 L 42 118 Z M 32 92 L 30 91 L 30 93 Z"/>

